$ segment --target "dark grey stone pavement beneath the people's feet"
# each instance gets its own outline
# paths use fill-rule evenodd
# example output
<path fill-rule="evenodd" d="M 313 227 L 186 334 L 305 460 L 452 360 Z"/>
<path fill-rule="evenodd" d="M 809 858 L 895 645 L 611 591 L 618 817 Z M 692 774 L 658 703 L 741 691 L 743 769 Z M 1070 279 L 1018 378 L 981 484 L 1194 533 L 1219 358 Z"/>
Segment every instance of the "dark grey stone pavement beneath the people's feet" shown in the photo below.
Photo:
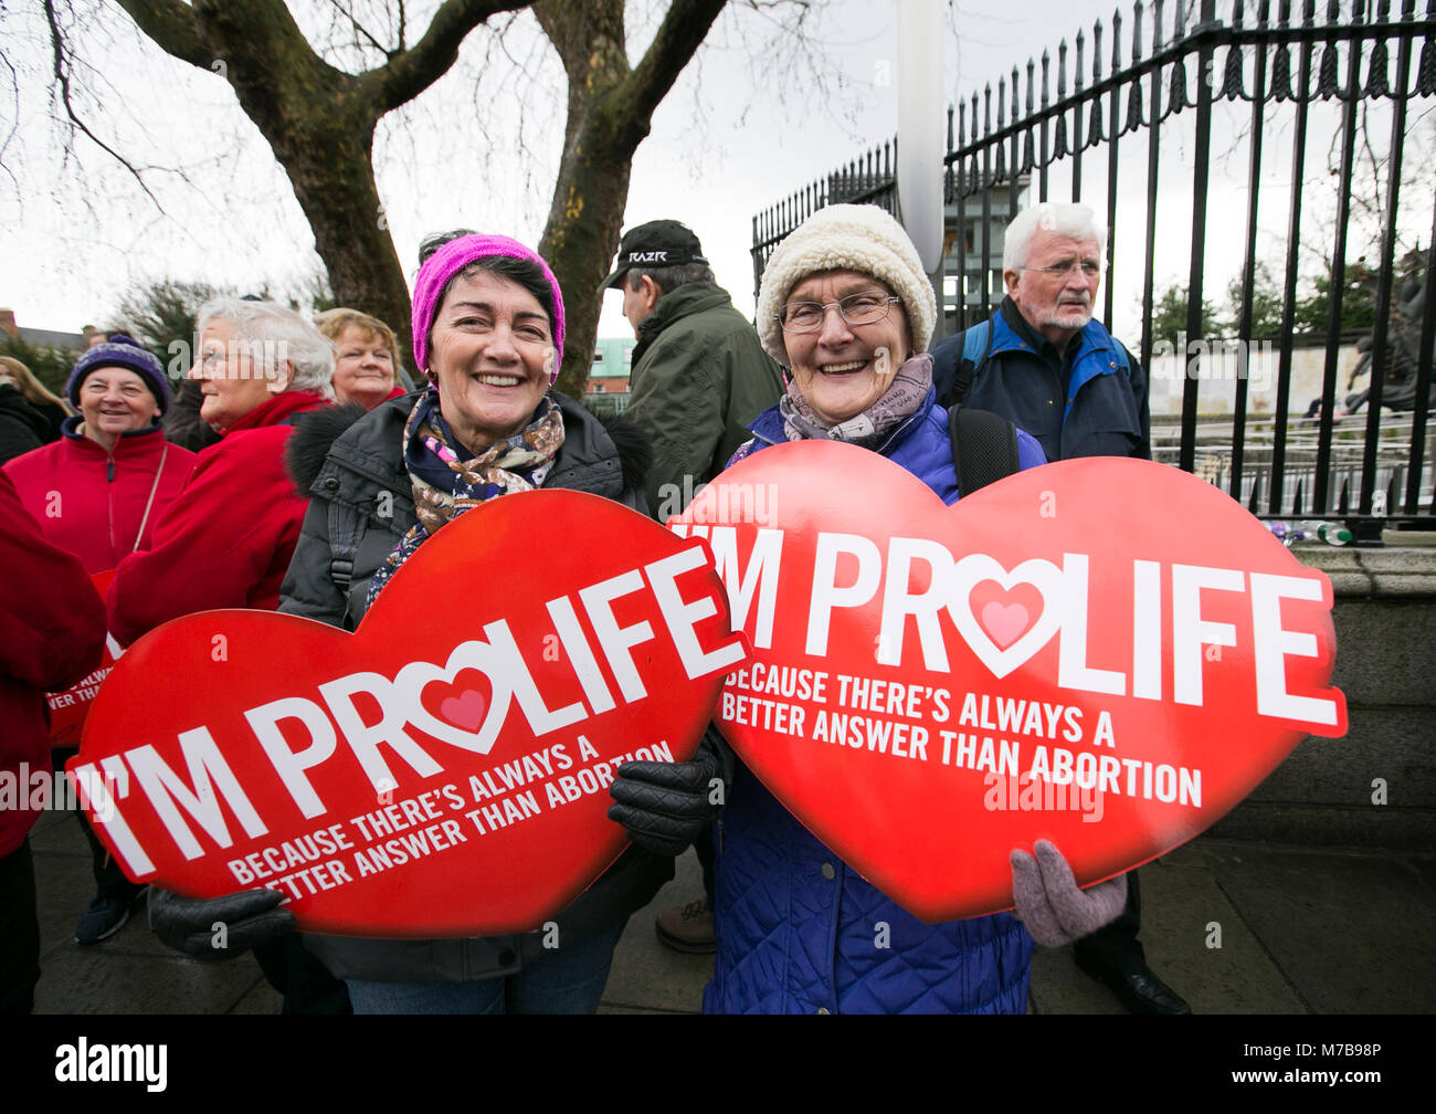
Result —
<path fill-rule="evenodd" d="M 42 931 L 39 1013 L 273 1013 L 279 998 L 248 956 L 201 965 L 165 949 L 142 907 L 93 947 L 73 939 L 90 900 L 75 818 L 32 834 Z M 698 894 L 698 862 L 629 921 L 603 996 L 610 1013 L 696 1013 L 708 956 L 653 936 L 653 911 Z M 1152 966 L 1198 1013 L 1427 1013 L 1436 1009 L 1436 855 L 1333 851 L 1199 838 L 1142 868 Z M 1219 946 L 1218 946 L 1219 944 Z M 1068 949 L 1038 950 L 1030 1009 L 1120 1013 Z"/>

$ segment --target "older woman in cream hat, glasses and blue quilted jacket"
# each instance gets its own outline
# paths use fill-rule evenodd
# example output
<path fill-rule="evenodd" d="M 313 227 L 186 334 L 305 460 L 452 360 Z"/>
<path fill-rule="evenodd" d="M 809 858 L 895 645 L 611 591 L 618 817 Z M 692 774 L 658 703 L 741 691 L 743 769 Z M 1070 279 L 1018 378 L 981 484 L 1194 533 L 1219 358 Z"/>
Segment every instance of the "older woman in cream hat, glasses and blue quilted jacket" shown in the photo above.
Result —
<path fill-rule="evenodd" d="M 928 342 L 936 300 L 902 227 L 873 206 L 830 206 L 773 253 L 758 295 L 764 348 L 790 371 L 734 461 L 806 438 L 879 453 L 945 503 L 959 497 Z M 1044 463 L 1018 431 L 1020 467 Z M 718 957 L 709 1013 L 1027 1009 L 1032 939 L 1057 946 L 1122 910 L 1124 881 L 1077 890 L 1051 844 L 1014 852 L 1010 913 L 925 924 L 870 885 L 734 763 L 718 844 Z M 1025 926 L 1024 926 L 1025 921 Z M 875 926 L 886 924 L 886 947 Z"/>

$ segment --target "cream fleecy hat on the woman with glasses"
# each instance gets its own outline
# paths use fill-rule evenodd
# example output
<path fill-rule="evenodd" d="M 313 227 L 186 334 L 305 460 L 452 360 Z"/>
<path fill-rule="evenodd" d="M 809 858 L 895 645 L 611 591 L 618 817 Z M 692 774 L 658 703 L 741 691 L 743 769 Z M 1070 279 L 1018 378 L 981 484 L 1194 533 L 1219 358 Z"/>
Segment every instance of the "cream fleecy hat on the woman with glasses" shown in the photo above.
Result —
<path fill-rule="evenodd" d="M 908 313 L 910 355 L 928 351 L 938 321 L 938 299 L 908 233 L 877 206 L 829 206 L 794 229 L 763 272 L 758 338 L 770 356 L 788 365 L 778 309 L 794 286 L 824 270 L 857 270 L 887 283 Z"/>

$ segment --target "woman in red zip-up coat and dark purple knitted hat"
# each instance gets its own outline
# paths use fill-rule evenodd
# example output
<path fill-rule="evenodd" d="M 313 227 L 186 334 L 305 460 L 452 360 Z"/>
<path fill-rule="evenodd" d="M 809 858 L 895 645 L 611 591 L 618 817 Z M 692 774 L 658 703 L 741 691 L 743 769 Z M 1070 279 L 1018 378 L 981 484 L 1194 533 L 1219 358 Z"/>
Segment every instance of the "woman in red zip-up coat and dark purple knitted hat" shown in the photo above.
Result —
<path fill-rule="evenodd" d="M 190 469 L 194 453 L 165 441 L 159 417 L 169 387 L 159 361 L 123 333 L 88 349 L 75 364 L 65 394 L 79 410 L 60 440 L 4 466 L 20 500 L 45 536 L 75 553 L 93 576 L 121 558 L 146 549 Z M 56 769 L 75 753 L 73 737 L 53 733 Z M 95 944 L 119 931 L 145 887 L 131 883 L 76 814 L 90 845 L 95 900 L 75 926 L 75 942 Z"/>

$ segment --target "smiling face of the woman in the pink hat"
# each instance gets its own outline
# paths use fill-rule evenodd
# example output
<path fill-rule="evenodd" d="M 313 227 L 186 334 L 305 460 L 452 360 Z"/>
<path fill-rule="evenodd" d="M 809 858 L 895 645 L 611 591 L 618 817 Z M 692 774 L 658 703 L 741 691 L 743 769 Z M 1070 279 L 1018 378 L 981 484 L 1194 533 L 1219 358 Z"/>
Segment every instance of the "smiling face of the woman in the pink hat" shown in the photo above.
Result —
<path fill-rule="evenodd" d="M 528 290 L 485 270 L 449 283 L 429 331 L 429 371 L 471 453 L 528 425 L 553 362 L 549 315 Z"/>

